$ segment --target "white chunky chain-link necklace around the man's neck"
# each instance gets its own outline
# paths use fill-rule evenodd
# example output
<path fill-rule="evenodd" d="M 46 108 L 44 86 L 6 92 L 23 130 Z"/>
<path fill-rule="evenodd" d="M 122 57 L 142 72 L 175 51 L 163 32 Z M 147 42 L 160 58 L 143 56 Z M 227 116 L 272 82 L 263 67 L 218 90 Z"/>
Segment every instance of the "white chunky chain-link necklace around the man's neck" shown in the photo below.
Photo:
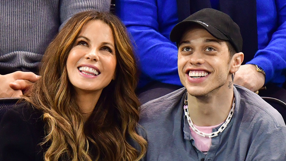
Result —
<path fill-rule="evenodd" d="M 227 116 L 227 119 L 225 120 L 225 122 L 221 125 L 221 127 L 219 127 L 219 129 L 215 132 L 212 132 L 212 133 L 204 133 L 202 131 L 200 131 L 199 129 L 197 129 L 194 124 L 193 124 L 193 121 L 192 119 L 190 118 L 190 115 L 189 115 L 189 110 L 188 110 L 188 99 L 187 99 L 187 95 L 188 93 L 186 94 L 185 96 L 185 101 L 184 101 L 184 112 L 185 112 L 185 116 L 187 117 L 187 120 L 188 120 L 188 123 L 189 123 L 189 126 L 192 128 L 192 130 L 197 133 L 198 135 L 202 136 L 202 137 L 209 137 L 209 138 L 212 138 L 212 137 L 215 137 L 217 136 L 218 133 L 220 132 L 223 132 L 223 130 L 227 127 L 227 124 L 229 124 L 229 122 L 231 121 L 231 118 L 233 116 L 233 111 L 234 111 L 234 106 L 235 106 L 235 97 L 233 98 L 233 104 L 232 104 L 232 107 L 231 107 L 231 110 L 229 111 L 229 115 Z"/>

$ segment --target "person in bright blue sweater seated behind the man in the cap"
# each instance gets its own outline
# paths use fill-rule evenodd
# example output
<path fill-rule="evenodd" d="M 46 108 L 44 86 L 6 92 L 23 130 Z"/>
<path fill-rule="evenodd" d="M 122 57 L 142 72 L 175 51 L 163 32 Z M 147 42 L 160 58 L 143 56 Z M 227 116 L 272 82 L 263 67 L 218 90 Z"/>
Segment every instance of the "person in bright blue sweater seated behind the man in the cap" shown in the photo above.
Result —
<path fill-rule="evenodd" d="M 286 0 L 116 2 L 116 14 L 136 42 L 142 103 L 182 87 L 177 47 L 169 35 L 176 23 L 202 8 L 227 13 L 241 28 L 245 60 L 236 72 L 235 84 L 257 91 L 267 83 L 282 87 L 285 82 Z"/>

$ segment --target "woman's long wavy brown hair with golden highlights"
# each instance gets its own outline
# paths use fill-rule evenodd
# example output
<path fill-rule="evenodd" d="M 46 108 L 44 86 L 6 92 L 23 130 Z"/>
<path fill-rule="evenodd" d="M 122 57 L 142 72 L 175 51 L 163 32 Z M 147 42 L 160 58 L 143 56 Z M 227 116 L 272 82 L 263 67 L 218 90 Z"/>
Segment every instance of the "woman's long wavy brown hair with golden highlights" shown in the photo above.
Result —
<path fill-rule="evenodd" d="M 92 20 L 108 24 L 116 48 L 116 78 L 103 89 L 87 121 L 76 103 L 66 69 L 67 56 L 83 26 Z M 74 15 L 48 46 L 41 78 L 23 98 L 43 111 L 47 160 L 140 160 L 147 142 L 136 133 L 140 105 L 134 90 L 136 64 L 126 28 L 111 13 Z M 129 140 L 129 141 L 128 141 Z M 136 150 L 131 144 L 137 145 Z"/>

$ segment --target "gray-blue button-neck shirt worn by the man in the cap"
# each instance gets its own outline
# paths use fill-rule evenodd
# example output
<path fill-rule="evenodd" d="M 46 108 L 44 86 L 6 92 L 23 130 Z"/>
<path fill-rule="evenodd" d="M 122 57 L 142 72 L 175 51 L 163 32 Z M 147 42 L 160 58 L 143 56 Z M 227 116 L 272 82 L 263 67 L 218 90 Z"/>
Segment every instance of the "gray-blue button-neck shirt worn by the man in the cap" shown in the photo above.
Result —
<path fill-rule="evenodd" d="M 142 105 L 139 123 L 148 141 L 145 160 L 286 160 L 286 126 L 280 113 L 244 87 L 235 85 L 233 91 L 233 117 L 212 138 L 206 155 L 196 148 L 183 113 L 185 88 Z"/>

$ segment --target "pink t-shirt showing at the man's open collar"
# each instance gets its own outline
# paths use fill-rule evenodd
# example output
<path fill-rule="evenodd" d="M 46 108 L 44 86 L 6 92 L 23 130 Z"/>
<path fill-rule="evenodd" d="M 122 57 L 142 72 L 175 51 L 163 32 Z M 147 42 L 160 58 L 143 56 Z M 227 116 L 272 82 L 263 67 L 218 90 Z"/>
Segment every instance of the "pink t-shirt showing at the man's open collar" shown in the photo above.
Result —
<path fill-rule="evenodd" d="M 219 125 L 223 124 L 224 122 L 220 123 Z M 204 133 L 212 133 L 212 129 L 218 127 L 219 125 L 215 126 L 197 126 L 194 124 L 194 126 L 204 132 Z M 190 127 L 191 135 L 194 138 L 195 146 L 198 148 L 198 150 L 202 151 L 204 154 L 208 152 L 210 149 L 210 146 L 212 145 L 212 139 L 209 137 L 202 137 L 195 133 L 193 129 Z"/>

